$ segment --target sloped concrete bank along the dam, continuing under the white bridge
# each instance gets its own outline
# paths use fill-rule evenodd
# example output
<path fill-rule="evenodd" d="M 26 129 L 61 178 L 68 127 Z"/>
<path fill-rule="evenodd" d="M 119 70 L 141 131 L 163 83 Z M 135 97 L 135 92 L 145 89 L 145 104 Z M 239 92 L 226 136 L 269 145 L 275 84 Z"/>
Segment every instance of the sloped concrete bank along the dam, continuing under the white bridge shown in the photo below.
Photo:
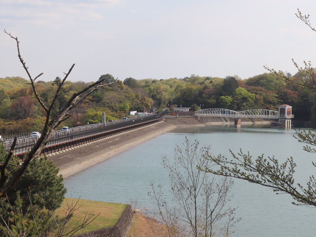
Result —
<path fill-rule="evenodd" d="M 267 120 L 242 121 L 242 124 L 270 123 Z M 164 121 L 149 125 L 133 131 L 124 132 L 112 137 L 84 145 L 72 147 L 48 155 L 59 168 L 59 173 L 64 178 L 75 175 L 95 164 L 112 156 L 126 151 L 138 144 L 155 138 L 177 127 L 194 127 L 208 125 L 234 124 L 233 119 L 224 118 L 165 118 Z"/>

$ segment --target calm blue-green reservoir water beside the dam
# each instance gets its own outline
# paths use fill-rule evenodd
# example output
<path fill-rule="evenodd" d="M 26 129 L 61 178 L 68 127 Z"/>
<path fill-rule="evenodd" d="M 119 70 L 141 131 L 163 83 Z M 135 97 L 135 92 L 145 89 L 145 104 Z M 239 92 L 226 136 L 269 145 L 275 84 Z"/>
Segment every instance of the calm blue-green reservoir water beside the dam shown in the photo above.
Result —
<path fill-rule="evenodd" d="M 293 129 L 270 128 L 268 125 L 208 126 L 176 128 L 130 150 L 94 165 L 64 180 L 68 189 L 66 196 L 81 196 L 105 202 L 130 203 L 138 200 L 138 208 L 155 209 L 148 196 L 149 183 L 169 185 L 168 173 L 161 166 L 161 156 L 172 158 L 175 144 L 192 142 L 210 144 L 213 155 L 226 155 L 249 151 L 254 157 L 264 154 L 275 156 L 279 163 L 292 156 L 297 164 L 295 183 L 305 186 L 309 176 L 315 174 L 312 166 L 314 155 L 302 150 L 293 135 Z M 229 203 L 238 207 L 236 216 L 242 217 L 237 223 L 233 236 L 315 236 L 316 209 L 295 206 L 290 195 L 276 195 L 271 189 L 257 184 L 234 179 L 234 197 Z M 171 198 L 165 191 L 166 198 Z"/>

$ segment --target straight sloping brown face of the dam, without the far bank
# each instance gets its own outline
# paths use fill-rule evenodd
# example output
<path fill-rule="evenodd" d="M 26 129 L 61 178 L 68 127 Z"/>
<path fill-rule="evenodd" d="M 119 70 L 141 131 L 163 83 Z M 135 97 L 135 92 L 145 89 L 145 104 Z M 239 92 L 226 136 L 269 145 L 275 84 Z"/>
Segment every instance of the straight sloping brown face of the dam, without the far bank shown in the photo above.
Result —
<path fill-rule="evenodd" d="M 49 159 L 54 161 L 56 166 L 59 167 L 59 173 L 65 178 L 164 132 L 170 131 L 175 127 L 166 122 L 159 122 L 154 125 L 53 153 L 49 155 Z"/>

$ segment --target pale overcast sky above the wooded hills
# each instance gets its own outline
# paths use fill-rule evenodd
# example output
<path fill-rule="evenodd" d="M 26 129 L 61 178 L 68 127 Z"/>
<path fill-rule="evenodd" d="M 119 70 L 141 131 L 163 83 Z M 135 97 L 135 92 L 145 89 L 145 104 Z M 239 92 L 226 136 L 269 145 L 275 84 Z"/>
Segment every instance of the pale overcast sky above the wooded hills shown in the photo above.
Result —
<path fill-rule="evenodd" d="M 0 0 L 0 25 L 17 36 L 39 80 L 168 79 L 196 74 L 246 79 L 277 70 L 296 73 L 292 58 L 316 66 L 313 32 L 296 16 L 315 0 Z M 0 77 L 27 74 L 16 43 L 0 32 Z"/>

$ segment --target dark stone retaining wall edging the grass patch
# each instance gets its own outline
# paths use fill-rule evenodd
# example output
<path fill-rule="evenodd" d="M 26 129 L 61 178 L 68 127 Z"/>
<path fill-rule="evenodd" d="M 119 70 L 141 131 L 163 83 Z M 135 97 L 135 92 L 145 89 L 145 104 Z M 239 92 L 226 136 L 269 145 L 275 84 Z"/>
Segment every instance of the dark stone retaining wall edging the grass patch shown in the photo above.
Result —
<path fill-rule="evenodd" d="M 75 234 L 71 237 L 125 237 L 131 226 L 133 210 L 130 204 L 126 205 L 118 221 L 113 226 Z"/>

